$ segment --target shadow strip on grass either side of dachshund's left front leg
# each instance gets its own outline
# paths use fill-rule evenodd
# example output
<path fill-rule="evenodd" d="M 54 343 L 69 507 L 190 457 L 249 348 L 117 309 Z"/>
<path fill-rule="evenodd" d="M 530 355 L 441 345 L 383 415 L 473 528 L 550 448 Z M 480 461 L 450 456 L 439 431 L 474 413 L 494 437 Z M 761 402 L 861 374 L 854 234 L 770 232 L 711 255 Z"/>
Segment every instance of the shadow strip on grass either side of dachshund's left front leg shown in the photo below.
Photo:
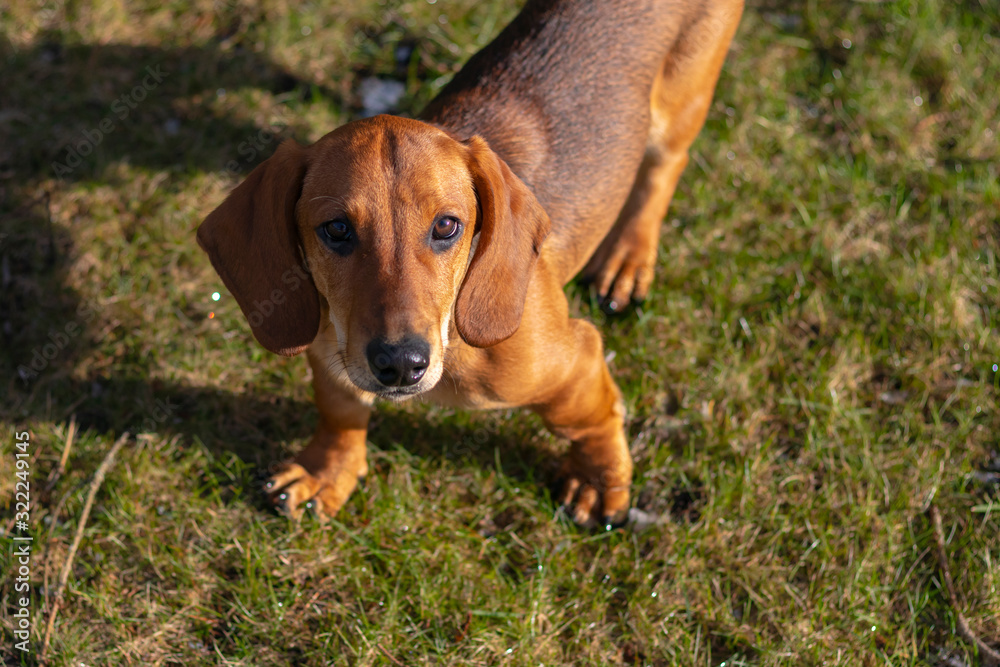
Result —
<path fill-rule="evenodd" d="M 294 456 L 318 421 L 316 406 L 307 397 L 278 392 L 234 392 L 120 375 L 85 382 L 58 380 L 47 383 L 47 389 L 48 397 L 59 397 L 56 404 L 28 402 L 22 419 L 61 421 L 72 413 L 80 431 L 108 438 L 128 431 L 161 440 L 180 436 L 182 447 L 199 441 L 216 460 L 237 456 L 253 471 L 253 480 L 244 481 L 255 484 Z M 368 438 L 376 454 L 374 475 L 385 472 L 379 463 L 385 457 L 378 452 L 391 455 L 401 449 L 434 466 L 496 469 L 511 479 L 538 484 L 540 492 L 555 482 L 555 459 L 544 437 L 540 444 L 532 442 L 540 437 L 530 419 L 516 419 L 511 425 L 509 413 L 454 419 L 435 414 L 434 408 L 377 407 Z M 203 473 L 221 474 L 210 469 Z M 263 494 L 255 501 L 258 507 L 265 505 Z"/>

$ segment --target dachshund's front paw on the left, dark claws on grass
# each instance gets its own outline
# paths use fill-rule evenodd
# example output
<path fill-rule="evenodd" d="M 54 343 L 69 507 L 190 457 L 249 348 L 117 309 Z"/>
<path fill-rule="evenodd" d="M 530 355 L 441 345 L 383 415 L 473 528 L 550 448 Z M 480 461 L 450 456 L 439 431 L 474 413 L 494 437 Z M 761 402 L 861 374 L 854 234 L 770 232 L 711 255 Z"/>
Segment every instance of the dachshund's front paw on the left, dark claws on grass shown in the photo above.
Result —
<path fill-rule="evenodd" d="M 325 522 L 347 502 L 360 474 L 343 467 L 310 473 L 291 463 L 267 481 L 264 491 L 279 512 L 298 520 L 311 510 Z"/>

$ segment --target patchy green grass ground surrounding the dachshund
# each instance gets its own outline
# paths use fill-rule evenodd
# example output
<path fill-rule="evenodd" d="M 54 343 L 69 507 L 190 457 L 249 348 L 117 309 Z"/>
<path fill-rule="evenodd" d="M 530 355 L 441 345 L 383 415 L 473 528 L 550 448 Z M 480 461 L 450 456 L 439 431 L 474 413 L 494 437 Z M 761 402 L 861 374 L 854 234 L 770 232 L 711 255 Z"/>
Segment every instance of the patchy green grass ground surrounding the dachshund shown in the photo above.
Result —
<path fill-rule="evenodd" d="M 371 75 L 404 81 L 414 113 L 515 11 L 0 9 L 0 524 L 28 430 L 36 614 L 25 657 L 5 546 L 6 662 L 37 659 L 88 482 L 125 430 L 51 664 L 977 664 L 931 502 L 970 625 L 997 645 L 986 0 L 748 8 L 651 299 L 605 321 L 569 288 L 615 353 L 636 502 L 659 523 L 578 530 L 555 516 L 563 445 L 536 419 L 417 404 L 380 411 L 372 474 L 333 529 L 264 506 L 262 475 L 315 423 L 306 368 L 254 343 L 195 226 L 275 136 L 350 120 Z"/>

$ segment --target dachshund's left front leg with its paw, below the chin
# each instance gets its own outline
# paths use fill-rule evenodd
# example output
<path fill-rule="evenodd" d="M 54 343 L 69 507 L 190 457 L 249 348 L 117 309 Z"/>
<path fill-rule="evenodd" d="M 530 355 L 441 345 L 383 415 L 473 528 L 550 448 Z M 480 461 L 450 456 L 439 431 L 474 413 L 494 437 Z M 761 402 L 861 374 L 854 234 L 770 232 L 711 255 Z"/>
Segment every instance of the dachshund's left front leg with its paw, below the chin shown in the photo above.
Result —
<path fill-rule="evenodd" d="M 294 461 L 266 485 L 271 501 L 292 517 L 312 508 L 332 517 L 368 474 L 365 439 L 371 406 L 334 381 L 325 360 L 309 350 L 319 425 Z"/>

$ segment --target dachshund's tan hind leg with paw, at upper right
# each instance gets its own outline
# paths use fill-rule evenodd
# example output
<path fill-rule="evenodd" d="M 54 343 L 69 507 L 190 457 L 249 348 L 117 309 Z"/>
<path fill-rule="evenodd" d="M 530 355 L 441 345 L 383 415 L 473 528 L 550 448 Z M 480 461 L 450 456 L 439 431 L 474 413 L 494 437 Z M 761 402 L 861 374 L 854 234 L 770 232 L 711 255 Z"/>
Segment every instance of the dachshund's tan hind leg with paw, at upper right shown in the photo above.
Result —
<path fill-rule="evenodd" d="M 618 220 L 583 271 L 608 310 L 641 301 L 649 292 L 660 226 L 688 149 L 705 124 L 742 11 L 742 0 L 709 3 L 678 38 L 653 83 L 646 154 Z"/>

